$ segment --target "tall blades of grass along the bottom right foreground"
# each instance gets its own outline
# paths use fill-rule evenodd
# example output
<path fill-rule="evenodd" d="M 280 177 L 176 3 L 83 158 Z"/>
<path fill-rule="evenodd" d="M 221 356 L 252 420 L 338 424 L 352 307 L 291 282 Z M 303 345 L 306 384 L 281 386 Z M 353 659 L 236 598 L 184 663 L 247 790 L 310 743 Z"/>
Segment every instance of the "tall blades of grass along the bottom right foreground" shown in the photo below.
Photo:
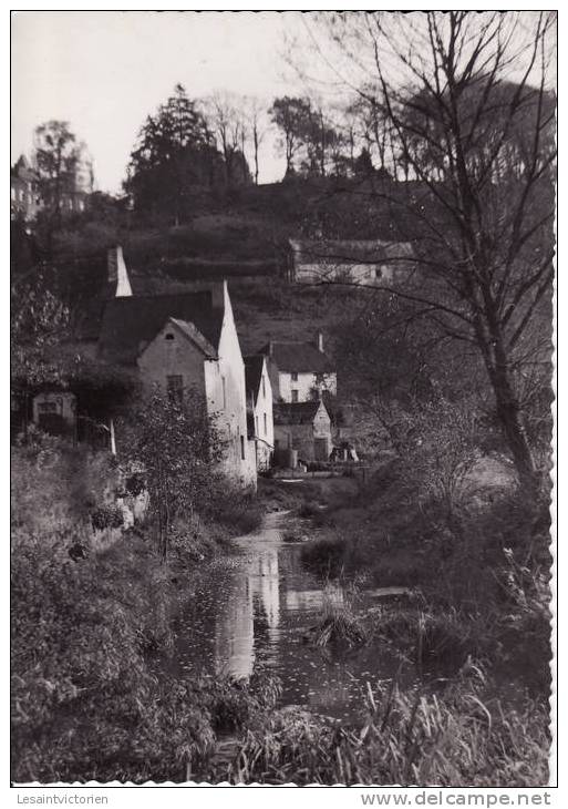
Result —
<path fill-rule="evenodd" d="M 548 780 L 543 706 L 505 710 L 473 665 L 443 696 L 368 684 L 364 724 L 277 714 L 242 740 L 231 782 L 537 787 Z"/>

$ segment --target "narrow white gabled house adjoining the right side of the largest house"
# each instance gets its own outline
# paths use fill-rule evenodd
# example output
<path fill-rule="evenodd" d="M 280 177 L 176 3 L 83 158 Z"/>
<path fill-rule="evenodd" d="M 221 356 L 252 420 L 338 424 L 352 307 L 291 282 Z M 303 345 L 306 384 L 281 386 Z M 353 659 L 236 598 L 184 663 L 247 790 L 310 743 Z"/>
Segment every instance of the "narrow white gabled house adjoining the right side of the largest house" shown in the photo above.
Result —
<path fill-rule="evenodd" d="M 255 442 L 258 471 L 270 469 L 275 449 L 272 386 L 266 357 L 245 357 L 248 437 Z"/>

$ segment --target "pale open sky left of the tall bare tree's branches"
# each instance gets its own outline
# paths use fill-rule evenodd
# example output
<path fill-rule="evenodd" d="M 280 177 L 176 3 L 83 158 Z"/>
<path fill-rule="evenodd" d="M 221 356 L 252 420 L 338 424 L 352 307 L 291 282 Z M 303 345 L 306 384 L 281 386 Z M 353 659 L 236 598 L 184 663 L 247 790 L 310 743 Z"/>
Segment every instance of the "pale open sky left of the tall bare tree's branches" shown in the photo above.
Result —
<path fill-rule="evenodd" d="M 136 134 L 180 82 L 189 98 L 223 90 L 271 100 L 301 89 L 282 59 L 297 12 L 21 11 L 12 17 L 12 163 L 35 126 L 68 121 L 94 158 L 101 191 L 116 193 Z M 285 76 L 288 78 L 285 78 Z M 276 135 L 260 182 L 280 180 Z"/>

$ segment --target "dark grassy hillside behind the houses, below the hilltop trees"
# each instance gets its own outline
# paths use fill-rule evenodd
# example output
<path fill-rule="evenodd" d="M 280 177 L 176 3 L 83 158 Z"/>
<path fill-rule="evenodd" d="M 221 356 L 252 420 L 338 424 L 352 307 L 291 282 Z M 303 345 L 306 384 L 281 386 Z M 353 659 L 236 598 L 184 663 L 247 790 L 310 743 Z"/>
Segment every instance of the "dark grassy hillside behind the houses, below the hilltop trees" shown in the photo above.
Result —
<path fill-rule="evenodd" d="M 187 281 L 227 278 L 245 352 L 270 338 L 312 339 L 317 330 L 329 349 L 333 325 L 353 295 L 290 287 L 283 279 L 288 239 L 317 233 L 386 237 L 394 219 L 375 192 L 372 181 L 321 177 L 248 186 L 207 198 L 177 227 L 144 222 L 120 206 L 91 211 L 54 235 L 52 260 L 42 255 L 40 236 L 22 234 L 33 244 L 13 252 L 12 272 L 37 272 L 41 262 L 48 286 L 80 313 L 83 326 L 86 318 L 82 336 L 92 339 L 106 290 L 106 250 L 122 244 L 135 293 L 182 291 Z"/>

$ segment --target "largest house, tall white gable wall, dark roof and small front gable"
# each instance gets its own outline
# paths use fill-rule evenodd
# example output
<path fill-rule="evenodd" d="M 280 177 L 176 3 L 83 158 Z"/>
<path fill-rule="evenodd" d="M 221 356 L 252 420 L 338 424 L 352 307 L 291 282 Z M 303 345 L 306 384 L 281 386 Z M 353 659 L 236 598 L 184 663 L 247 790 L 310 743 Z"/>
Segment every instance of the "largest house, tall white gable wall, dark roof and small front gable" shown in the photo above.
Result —
<path fill-rule="evenodd" d="M 133 295 L 120 249 L 110 268 L 116 268 L 116 291 L 104 308 L 99 359 L 137 369 L 143 383 L 158 383 L 171 396 L 188 388 L 203 395 L 223 442 L 224 470 L 244 485 L 256 484 L 245 363 L 226 281 L 175 295 Z"/>

